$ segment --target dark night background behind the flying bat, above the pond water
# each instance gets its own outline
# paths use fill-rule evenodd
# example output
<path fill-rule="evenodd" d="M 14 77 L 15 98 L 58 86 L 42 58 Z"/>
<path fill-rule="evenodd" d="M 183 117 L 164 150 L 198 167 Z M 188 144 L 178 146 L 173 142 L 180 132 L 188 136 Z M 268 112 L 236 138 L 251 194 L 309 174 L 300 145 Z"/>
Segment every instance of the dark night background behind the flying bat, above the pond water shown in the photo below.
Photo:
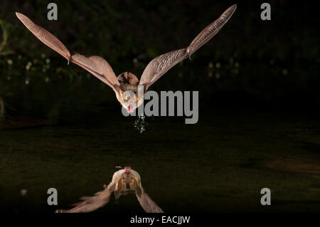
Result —
<path fill-rule="evenodd" d="M 188 46 L 211 21 L 235 2 L 225 1 L 56 1 L 58 21 L 46 19 L 46 1 L 2 1 L 1 20 L 8 33 L 1 70 L 13 73 L 41 53 L 51 58 L 52 80 L 87 72 L 37 41 L 14 12 L 29 16 L 57 36 L 70 50 L 107 59 L 114 72 L 125 70 L 139 78 L 149 61 Z M 260 19 L 262 1 L 237 2 L 225 27 L 197 51 L 192 60 L 169 71 L 154 90 L 200 90 L 201 99 L 215 104 L 304 111 L 319 105 L 319 25 L 311 4 L 270 1 L 271 21 Z M 18 60 L 18 55 L 23 56 Z M 7 59 L 14 60 L 9 68 Z M 134 63 L 134 58 L 137 63 Z M 209 68 L 209 64 L 213 68 Z M 220 63 L 220 68 L 215 64 Z M 238 67 L 235 66 L 238 65 Z M 41 65 L 30 77 L 43 80 Z M 57 70 L 60 69 L 60 70 Z M 14 76 L 12 76 L 14 78 Z M 91 78 L 90 78 L 91 79 Z M 63 78 L 65 80 L 65 78 Z M 91 93 L 100 81 L 80 85 Z M 2 85 L 6 86 L 6 85 Z M 100 96 L 114 94 L 110 89 Z M 81 99 L 81 98 L 80 98 Z M 203 107 L 203 106 L 202 106 Z M 207 105 L 206 105 L 207 107 Z"/>

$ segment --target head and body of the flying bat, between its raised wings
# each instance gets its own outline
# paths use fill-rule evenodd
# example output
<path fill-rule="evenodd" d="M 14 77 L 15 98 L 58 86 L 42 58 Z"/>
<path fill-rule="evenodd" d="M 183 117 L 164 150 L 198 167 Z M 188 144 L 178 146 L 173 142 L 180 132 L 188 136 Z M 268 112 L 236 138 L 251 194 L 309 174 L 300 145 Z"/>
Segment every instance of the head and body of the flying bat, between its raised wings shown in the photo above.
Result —
<path fill-rule="evenodd" d="M 118 80 L 120 86 L 117 99 L 127 112 L 134 112 L 144 101 L 144 85 L 139 85 L 137 77 L 128 72 L 121 73 Z"/>

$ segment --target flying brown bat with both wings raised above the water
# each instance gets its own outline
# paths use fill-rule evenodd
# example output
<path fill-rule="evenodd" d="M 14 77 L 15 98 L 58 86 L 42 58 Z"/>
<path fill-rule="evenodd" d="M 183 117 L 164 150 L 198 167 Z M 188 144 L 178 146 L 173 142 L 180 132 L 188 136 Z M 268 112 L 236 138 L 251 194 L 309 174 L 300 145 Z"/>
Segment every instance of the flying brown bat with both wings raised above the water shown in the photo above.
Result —
<path fill-rule="evenodd" d="M 177 63 L 190 56 L 201 48 L 203 44 L 207 43 L 210 38 L 213 38 L 218 31 L 227 23 L 233 12 L 237 8 L 237 5 L 230 6 L 223 14 L 215 21 L 210 23 L 201 33 L 193 39 L 191 44 L 187 48 L 182 48 L 169 53 L 164 53 L 151 60 L 146 65 L 142 77 L 140 80 L 129 72 L 121 73 L 118 77 L 114 74 L 111 66 L 107 63 L 107 60 L 99 56 L 82 56 L 79 53 L 70 53 L 70 51 L 58 40 L 53 34 L 46 31 L 46 29 L 33 23 L 28 17 L 23 14 L 16 13 L 18 19 L 30 30 L 40 41 L 45 43 L 48 47 L 54 51 L 60 53 L 61 56 L 67 58 L 69 61 L 80 65 L 88 72 L 95 75 L 98 79 L 109 85 L 116 93 L 117 100 L 128 111 L 133 112 L 136 107 L 142 104 L 144 100 L 144 93 L 156 80 L 158 80 L 164 73 L 170 68 L 174 67 Z M 143 94 L 136 95 L 136 100 L 130 101 L 130 94 L 124 93 L 129 90 L 138 93 L 138 85 L 143 85 Z"/>

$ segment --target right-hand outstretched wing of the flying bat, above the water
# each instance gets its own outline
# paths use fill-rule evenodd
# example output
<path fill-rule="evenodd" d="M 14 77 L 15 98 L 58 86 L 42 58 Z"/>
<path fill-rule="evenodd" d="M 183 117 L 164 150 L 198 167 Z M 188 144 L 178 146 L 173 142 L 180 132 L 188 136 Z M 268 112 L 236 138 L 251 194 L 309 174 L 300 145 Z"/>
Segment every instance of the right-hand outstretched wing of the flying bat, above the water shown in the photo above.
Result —
<path fill-rule="evenodd" d="M 142 73 L 139 85 L 144 85 L 146 89 L 149 88 L 150 85 L 156 82 L 156 80 L 158 80 L 161 75 L 164 75 L 164 73 L 166 73 L 170 68 L 181 62 L 181 60 L 190 57 L 192 53 L 197 51 L 198 48 L 201 48 L 201 46 L 207 43 L 210 38 L 213 38 L 213 36 L 220 31 L 220 29 L 233 15 L 236 8 L 236 4 L 230 6 L 230 8 L 224 11 L 217 20 L 204 28 L 187 48 L 164 53 L 163 55 L 151 60 L 151 62 L 146 65 L 144 73 Z"/>

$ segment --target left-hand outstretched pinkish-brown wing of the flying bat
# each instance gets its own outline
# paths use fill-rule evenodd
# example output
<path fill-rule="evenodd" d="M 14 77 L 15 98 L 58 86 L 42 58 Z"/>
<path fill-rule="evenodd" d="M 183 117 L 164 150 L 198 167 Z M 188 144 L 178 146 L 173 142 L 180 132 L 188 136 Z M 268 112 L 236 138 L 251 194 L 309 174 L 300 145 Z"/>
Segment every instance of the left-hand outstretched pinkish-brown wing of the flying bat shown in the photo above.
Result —
<path fill-rule="evenodd" d="M 16 16 L 26 26 L 26 28 L 33 33 L 33 35 L 35 35 L 41 42 L 45 43 L 46 46 L 53 49 L 53 51 L 60 53 L 61 56 L 68 60 L 68 63 L 69 61 L 72 61 L 73 63 L 81 66 L 89 73 L 92 73 L 92 75 L 95 75 L 95 77 L 102 80 L 102 82 L 109 85 L 112 89 L 114 89 L 116 85 L 119 85 L 119 81 L 117 80 L 111 66 L 107 63 L 107 60 L 99 56 L 85 57 L 79 53 L 71 54 L 63 43 L 53 36 L 52 33 L 41 28 L 41 26 L 36 25 L 36 23 L 33 23 L 31 19 L 28 19 L 28 17 L 23 14 L 16 13 Z"/>

